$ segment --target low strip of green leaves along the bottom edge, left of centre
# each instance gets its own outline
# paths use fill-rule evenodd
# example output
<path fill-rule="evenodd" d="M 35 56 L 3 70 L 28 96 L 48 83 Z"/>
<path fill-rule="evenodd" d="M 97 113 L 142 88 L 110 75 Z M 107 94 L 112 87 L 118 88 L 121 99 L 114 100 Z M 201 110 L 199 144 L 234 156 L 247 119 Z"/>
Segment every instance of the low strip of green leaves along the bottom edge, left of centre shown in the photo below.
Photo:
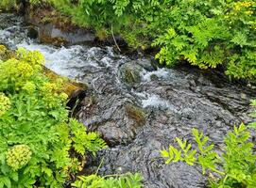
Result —
<path fill-rule="evenodd" d="M 78 188 L 141 188 L 142 177 L 140 174 L 124 174 L 99 177 L 97 175 L 78 177 L 75 183 L 72 184 Z"/>

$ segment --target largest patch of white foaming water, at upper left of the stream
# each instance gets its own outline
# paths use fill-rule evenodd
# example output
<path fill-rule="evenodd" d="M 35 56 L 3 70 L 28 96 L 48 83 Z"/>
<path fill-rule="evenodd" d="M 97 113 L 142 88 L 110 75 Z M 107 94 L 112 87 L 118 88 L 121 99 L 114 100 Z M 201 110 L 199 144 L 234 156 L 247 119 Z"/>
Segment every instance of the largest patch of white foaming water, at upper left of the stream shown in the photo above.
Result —
<path fill-rule="evenodd" d="M 62 76 L 73 79 L 79 79 L 80 76 L 84 75 L 84 67 L 98 67 L 96 61 L 90 60 L 95 55 L 95 48 L 89 49 L 88 51 L 79 45 L 69 48 L 56 48 L 29 41 L 24 41 L 18 44 L 17 47 L 24 47 L 30 51 L 40 51 L 45 57 L 45 66 L 47 68 L 58 72 Z"/>

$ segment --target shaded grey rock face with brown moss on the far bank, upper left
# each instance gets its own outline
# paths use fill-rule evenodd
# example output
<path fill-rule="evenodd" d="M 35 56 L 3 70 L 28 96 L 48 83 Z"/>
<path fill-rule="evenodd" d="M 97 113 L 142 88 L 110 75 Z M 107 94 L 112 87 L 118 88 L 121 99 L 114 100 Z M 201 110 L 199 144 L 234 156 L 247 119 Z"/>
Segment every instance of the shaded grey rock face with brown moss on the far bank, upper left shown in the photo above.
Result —
<path fill-rule="evenodd" d="M 30 27 L 33 28 L 28 31 L 38 31 L 37 37 L 42 43 L 61 46 L 64 44 L 93 42 L 95 39 L 95 35 L 91 30 L 79 28 L 67 22 L 65 18 L 62 18 L 61 15 L 51 9 L 33 9 L 26 6 L 24 11 L 26 11 L 26 24 L 30 24 Z"/>

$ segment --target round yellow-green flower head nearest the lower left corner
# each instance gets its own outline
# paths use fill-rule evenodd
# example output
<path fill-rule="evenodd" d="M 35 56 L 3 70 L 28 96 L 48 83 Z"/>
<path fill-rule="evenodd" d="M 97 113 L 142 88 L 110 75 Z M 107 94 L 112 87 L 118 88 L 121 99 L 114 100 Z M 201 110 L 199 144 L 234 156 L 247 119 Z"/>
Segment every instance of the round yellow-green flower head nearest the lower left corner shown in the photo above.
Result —
<path fill-rule="evenodd" d="M 32 152 L 27 145 L 16 145 L 8 150 L 7 163 L 16 171 L 30 161 L 31 155 Z"/>

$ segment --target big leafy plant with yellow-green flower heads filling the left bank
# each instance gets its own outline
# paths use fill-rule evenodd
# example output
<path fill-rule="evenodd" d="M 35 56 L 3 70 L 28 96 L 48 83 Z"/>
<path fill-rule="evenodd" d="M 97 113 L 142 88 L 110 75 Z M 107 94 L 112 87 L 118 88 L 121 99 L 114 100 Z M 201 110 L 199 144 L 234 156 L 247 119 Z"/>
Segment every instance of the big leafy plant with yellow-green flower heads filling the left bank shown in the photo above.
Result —
<path fill-rule="evenodd" d="M 99 134 L 68 118 L 63 82 L 43 76 L 43 62 L 25 49 L 0 62 L 0 188 L 62 187 L 87 152 L 106 148 Z"/>

